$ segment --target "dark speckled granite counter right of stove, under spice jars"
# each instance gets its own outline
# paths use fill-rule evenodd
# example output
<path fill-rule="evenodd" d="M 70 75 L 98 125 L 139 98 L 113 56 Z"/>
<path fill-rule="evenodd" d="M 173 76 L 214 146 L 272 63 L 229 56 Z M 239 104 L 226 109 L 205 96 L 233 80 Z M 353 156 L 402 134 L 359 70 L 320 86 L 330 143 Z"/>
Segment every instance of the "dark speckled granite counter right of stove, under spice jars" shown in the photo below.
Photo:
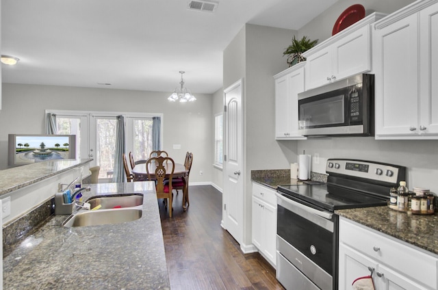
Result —
<path fill-rule="evenodd" d="M 335 211 L 364 226 L 378 230 L 434 254 L 438 254 L 438 215 L 411 215 L 388 207 Z"/>

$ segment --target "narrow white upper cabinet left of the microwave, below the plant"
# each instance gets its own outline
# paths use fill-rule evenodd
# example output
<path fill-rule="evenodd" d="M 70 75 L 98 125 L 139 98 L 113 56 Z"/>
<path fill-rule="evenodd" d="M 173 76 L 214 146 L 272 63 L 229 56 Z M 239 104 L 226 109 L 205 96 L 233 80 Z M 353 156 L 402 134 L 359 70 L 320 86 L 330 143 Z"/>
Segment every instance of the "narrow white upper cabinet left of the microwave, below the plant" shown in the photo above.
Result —
<path fill-rule="evenodd" d="M 305 62 L 274 75 L 275 139 L 305 139 L 298 134 L 298 93 L 305 90 Z"/>

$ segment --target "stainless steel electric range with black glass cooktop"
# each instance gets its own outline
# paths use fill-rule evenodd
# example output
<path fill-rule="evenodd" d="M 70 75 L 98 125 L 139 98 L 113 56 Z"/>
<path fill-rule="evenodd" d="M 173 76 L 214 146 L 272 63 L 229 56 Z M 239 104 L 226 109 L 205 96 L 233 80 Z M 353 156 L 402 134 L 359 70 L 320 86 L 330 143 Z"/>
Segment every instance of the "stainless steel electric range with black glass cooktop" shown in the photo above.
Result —
<path fill-rule="evenodd" d="M 276 278 L 286 289 L 337 289 L 337 209 L 387 205 L 406 168 L 355 159 L 329 159 L 327 183 L 277 189 Z"/>

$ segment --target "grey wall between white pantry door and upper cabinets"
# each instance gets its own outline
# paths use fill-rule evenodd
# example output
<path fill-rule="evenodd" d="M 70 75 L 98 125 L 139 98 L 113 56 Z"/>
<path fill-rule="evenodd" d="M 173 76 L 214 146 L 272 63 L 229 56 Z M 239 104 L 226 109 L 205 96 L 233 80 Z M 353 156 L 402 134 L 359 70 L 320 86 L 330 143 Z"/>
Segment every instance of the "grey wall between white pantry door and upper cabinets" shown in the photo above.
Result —
<path fill-rule="evenodd" d="M 244 236 L 251 243 L 250 171 L 287 168 L 296 160 L 296 142 L 275 141 L 274 79 L 287 68 L 283 51 L 296 31 L 245 25 L 224 51 L 224 88 L 244 79 Z"/>

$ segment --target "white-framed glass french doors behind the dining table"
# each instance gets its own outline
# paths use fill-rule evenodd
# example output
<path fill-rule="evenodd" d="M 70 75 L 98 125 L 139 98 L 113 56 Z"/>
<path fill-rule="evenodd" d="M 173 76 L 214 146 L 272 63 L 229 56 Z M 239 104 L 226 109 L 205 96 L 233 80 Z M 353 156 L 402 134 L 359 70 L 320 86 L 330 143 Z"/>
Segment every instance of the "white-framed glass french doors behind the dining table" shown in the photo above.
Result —
<path fill-rule="evenodd" d="M 118 112 L 84 112 L 47 110 L 56 114 L 57 133 L 74 134 L 77 158 L 93 159 L 91 166 L 101 166 L 99 179 L 112 178 L 116 148 L 116 116 Z M 153 116 L 159 114 L 127 113 L 125 118 L 126 153 L 134 159 L 147 159 L 153 146 Z M 163 123 L 162 123 L 163 124 Z M 162 136 L 162 130 L 160 130 Z"/>

